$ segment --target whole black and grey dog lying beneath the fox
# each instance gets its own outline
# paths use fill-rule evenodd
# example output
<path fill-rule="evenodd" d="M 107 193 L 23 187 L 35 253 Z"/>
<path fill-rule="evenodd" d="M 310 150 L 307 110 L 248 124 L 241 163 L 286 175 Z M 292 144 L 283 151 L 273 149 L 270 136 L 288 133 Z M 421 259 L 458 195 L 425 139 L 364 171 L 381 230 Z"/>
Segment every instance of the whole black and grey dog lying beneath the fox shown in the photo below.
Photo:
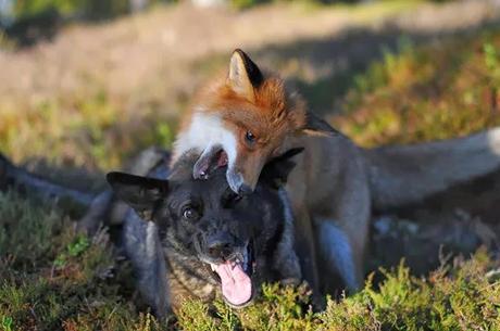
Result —
<path fill-rule="evenodd" d="M 164 152 L 143 152 L 130 170 L 148 169 L 149 177 L 110 173 L 107 180 L 115 198 L 105 200 L 110 192 L 104 192 L 92 203 L 89 194 L 33 176 L 7 158 L 0 158 L 0 179 L 30 195 L 90 204 L 83 220 L 87 229 L 97 228 L 89 219 L 120 215 L 123 219 L 114 224 L 122 224 L 121 246 L 132 262 L 138 290 L 158 317 L 167 317 L 189 298 L 211 302 L 222 294 L 229 306 L 241 308 L 252 303 L 263 282 L 302 281 L 292 214 L 283 190 L 300 151 L 267 163 L 254 192 L 246 196 L 230 190 L 225 168 L 215 169 L 208 180 L 193 179 L 199 154 L 191 152 L 171 169 Z M 117 212 L 123 207 L 120 201 L 127 204 L 125 212 Z"/>

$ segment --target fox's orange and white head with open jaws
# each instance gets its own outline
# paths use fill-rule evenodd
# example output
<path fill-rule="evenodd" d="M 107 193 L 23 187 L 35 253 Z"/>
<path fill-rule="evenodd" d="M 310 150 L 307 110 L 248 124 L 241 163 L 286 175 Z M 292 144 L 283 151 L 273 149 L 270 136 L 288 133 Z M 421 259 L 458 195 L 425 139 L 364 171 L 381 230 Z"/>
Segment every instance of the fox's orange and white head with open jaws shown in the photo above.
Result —
<path fill-rule="evenodd" d="M 264 164 L 290 148 L 288 139 L 336 133 L 307 111 L 302 98 L 283 79 L 263 75 L 241 50 L 233 53 L 227 77 L 203 90 L 198 100 L 184 133 L 190 138 L 180 138 L 177 145 L 201 147 L 195 177 L 205 177 L 212 164 L 227 164 L 227 181 L 239 194 L 253 191 Z"/>

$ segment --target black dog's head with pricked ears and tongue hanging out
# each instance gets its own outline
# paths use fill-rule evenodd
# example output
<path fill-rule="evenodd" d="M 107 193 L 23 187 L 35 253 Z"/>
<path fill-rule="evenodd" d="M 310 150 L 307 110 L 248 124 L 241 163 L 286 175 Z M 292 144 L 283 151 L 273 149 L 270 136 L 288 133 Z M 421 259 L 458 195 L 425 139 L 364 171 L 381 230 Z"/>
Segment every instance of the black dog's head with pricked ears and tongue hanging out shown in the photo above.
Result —
<path fill-rule="evenodd" d="M 237 195 L 225 168 L 207 180 L 192 178 L 198 155 L 180 158 L 168 180 L 110 173 L 107 179 L 120 199 L 157 222 L 162 241 L 176 254 L 196 257 L 205 279 L 221 285 L 233 307 L 249 304 L 265 279 L 284 227 L 278 188 L 293 167 L 291 150 L 268 163 L 253 194 Z"/>

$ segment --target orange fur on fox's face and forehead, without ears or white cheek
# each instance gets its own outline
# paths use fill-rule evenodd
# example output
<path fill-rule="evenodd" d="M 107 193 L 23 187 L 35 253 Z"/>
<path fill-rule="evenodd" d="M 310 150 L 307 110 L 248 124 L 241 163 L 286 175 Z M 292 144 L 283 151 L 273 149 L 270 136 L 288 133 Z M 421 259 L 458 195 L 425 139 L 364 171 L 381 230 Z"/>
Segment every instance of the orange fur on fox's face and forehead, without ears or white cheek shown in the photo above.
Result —
<path fill-rule="evenodd" d="M 238 137 L 239 155 L 255 153 L 266 160 L 276 156 L 283 152 L 284 138 L 300 132 L 304 126 L 305 102 L 298 93 L 289 91 L 282 78 L 271 75 L 254 89 L 254 102 L 250 102 L 230 88 L 226 77 L 217 77 L 200 89 L 183 117 L 180 131 L 189 125 L 195 111 L 216 114 Z M 257 137 L 253 148 L 243 141 L 247 131 Z M 251 171 L 249 168 L 254 165 L 250 162 L 241 170 Z"/>

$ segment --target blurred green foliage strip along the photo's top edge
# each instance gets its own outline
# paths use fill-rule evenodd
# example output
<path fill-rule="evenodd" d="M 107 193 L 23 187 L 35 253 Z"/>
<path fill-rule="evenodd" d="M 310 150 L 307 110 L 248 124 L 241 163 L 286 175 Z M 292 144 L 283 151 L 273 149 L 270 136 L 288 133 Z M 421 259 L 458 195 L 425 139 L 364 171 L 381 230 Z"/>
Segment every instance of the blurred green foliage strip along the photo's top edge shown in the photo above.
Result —
<path fill-rule="evenodd" d="M 374 0 L 393 2 L 395 0 Z M 414 1 L 414 0 L 410 0 Z M 428 0 L 451 2 L 457 0 Z M 33 44 L 40 37 L 50 37 L 61 24 L 74 21 L 102 21 L 134 14 L 157 4 L 179 0 L 0 0 L 0 42 L 5 35 L 18 44 Z M 185 0 L 184 2 L 189 2 Z M 243 10 L 266 3 L 300 3 L 302 5 L 353 4 L 366 0 L 192 0 L 201 7 L 224 5 Z M 4 43 L 4 42 L 3 42 Z"/>

